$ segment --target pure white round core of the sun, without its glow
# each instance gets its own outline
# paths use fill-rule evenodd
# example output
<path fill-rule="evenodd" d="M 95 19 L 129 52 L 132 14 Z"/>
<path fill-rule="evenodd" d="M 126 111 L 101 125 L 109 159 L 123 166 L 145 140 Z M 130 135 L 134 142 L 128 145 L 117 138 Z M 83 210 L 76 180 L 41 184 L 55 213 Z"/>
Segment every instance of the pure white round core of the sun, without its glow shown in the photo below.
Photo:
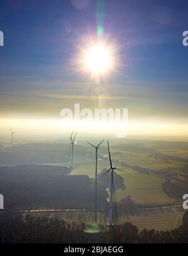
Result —
<path fill-rule="evenodd" d="M 110 51 L 103 45 L 91 46 L 86 50 L 85 66 L 93 75 L 107 73 L 112 67 Z"/>

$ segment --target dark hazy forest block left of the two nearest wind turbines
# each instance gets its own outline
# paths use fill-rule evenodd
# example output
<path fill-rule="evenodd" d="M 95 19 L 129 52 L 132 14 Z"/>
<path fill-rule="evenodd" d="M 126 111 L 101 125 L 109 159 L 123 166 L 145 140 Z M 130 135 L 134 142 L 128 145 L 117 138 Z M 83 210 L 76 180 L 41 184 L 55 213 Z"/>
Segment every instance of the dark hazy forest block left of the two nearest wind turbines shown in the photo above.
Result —
<path fill-rule="evenodd" d="M 69 173 L 69 168 L 60 166 L 2 166 L 0 192 L 4 210 L 93 208 L 92 180 Z M 99 189 L 98 196 L 99 206 L 105 208 L 105 188 Z"/>

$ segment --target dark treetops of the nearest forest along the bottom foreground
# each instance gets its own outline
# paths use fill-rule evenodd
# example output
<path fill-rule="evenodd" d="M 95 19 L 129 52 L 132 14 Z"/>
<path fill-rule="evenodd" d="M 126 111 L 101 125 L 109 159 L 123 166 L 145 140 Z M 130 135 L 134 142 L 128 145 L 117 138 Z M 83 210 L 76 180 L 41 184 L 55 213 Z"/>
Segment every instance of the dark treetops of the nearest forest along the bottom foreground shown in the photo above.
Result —
<path fill-rule="evenodd" d="M 87 233 L 84 223 L 68 224 L 56 218 L 1 214 L 0 243 L 188 243 L 188 211 L 183 224 L 174 230 L 142 230 L 131 222 L 99 227 Z"/>

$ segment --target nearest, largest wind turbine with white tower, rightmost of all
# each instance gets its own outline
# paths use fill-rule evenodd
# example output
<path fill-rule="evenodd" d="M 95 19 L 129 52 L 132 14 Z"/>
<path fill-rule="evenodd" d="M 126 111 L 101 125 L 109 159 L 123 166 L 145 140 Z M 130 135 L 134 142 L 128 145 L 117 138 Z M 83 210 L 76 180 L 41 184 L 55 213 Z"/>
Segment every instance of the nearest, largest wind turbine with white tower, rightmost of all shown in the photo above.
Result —
<path fill-rule="evenodd" d="M 113 186 L 114 185 L 113 184 L 113 171 L 118 170 L 118 171 L 122 171 L 123 173 L 127 173 L 127 171 L 123 171 L 121 169 L 116 168 L 115 166 L 112 166 L 109 142 L 108 142 L 108 156 L 109 156 L 109 160 L 110 160 L 110 169 L 108 169 L 108 171 L 106 171 L 106 173 L 103 174 L 103 176 L 105 176 L 107 173 L 109 173 L 109 171 L 111 171 L 109 226 L 112 226 L 113 225 L 113 188 L 114 188 L 114 186 Z M 127 173 L 127 174 L 131 175 L 130 173 Z"/>

